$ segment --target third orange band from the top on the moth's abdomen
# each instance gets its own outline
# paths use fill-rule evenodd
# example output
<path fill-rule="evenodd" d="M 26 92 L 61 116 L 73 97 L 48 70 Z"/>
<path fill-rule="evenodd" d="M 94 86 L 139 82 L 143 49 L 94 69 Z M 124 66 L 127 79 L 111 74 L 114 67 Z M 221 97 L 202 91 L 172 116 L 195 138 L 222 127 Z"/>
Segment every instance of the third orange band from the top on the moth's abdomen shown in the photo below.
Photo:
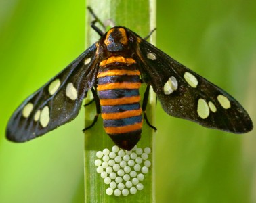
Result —
<path fill-rule="evenodd" d="M 139 89 L 140 83 L 106 83 L 97 86 L 97 90 L 107 90 L 107 89 Z"/>

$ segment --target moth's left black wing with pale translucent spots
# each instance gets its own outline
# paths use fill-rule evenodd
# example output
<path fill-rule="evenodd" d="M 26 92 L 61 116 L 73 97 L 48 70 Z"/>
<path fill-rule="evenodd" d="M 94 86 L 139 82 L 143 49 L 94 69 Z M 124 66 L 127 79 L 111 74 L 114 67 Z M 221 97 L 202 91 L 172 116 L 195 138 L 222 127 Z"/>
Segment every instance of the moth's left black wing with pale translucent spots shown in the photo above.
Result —
<path fill-rule="evenodd" d="M 17 108 L 7 125 L 7 139 L 28 141 L 73 120 L 95 83 L 97 67 L 94 44 Z"/>

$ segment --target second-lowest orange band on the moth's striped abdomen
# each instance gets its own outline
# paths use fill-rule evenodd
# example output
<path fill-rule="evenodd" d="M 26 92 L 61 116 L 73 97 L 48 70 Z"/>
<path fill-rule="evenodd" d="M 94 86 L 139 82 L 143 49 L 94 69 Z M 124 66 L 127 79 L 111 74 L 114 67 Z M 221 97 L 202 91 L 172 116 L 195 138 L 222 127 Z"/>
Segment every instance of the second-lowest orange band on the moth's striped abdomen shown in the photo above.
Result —
<path fill-rule="evenodd" d="M 142 109 L 140 108 L 137 110 L 127 110 L 125 112 L 102 114 L 102 119 L 109 120 L 109 119 L 130 118 L 133 116 L 140 116 L 141 114 L 142 114 Z"/>

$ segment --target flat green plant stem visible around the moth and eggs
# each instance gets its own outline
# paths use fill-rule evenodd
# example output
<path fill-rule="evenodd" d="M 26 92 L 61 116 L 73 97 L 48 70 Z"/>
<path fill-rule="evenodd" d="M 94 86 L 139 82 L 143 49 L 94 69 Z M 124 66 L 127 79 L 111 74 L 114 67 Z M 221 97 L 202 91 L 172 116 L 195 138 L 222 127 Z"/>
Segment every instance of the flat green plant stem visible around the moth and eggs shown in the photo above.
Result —
<path fill-rule="evenodd" d="M 95 14 L 102 22 L 111 20 L 116 25 L 125 26 L 138 35 L 146 37 L 150 30 L 156 27 L 156 1 L 102 1 L 89 0 L 86 6 L 90 6 Z M 85 45 L 89 47 L 100 38 L 99 35 L 90 27 L 90 22 L 93 16 L 86 12 L 86 30 L 85 30 Z M 103 30 L 100 24 L 96 24 Z M 156 33 L 150 37 L 150 42 L 155 43 Z M 143 98 L 146 85 L 142 84 L 140 89 L 141 98 Z M 88 95 L 87 97 L 90 97 Z M 91 99 L 91 97 L 90 97 Z M 85 102 L 90 101 L 86 99 Z M 154 125 L 154 108 L 155 95 L 150 91 L 150 97 L 147 106 L 147 115 L 150 122 Z M 85 108 L 85 126 L 89 126 L 95 116 L 95 103 L 90 104 Z M 144 189 L 137 191 L 137 194 L 129 196 L 106 195 L 108 186 L 104 184 L 104 180 L 100 174 L 96 172 L 94 160 L 95 154 L 104 148 L 111 149 L 114 143 L 106 135 L 103 129 L 102 118 L 99 116 L 98 122 L 89 130 L 85 131 L 85 202 L 155 202 L 154 197 L 154 131 L 146 125 L 142 128 L 142 139 L 139 141 L 140 148 L 150 147 L 152 166 L 150 172 L 145 175 Z"/>

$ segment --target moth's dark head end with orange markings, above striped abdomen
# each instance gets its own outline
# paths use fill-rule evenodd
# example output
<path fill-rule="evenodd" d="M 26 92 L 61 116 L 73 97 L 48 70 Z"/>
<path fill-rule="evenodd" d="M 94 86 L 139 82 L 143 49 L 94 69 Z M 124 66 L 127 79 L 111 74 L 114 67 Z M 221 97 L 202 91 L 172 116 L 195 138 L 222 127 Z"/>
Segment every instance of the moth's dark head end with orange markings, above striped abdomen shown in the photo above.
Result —
<path fill-rule="evenodd" d="M 125 51 L 129 48 L 128 43 L 127 31 L 124 28 L 114 27 L 106 32 L 104 44 L 109 52 Z"/>

